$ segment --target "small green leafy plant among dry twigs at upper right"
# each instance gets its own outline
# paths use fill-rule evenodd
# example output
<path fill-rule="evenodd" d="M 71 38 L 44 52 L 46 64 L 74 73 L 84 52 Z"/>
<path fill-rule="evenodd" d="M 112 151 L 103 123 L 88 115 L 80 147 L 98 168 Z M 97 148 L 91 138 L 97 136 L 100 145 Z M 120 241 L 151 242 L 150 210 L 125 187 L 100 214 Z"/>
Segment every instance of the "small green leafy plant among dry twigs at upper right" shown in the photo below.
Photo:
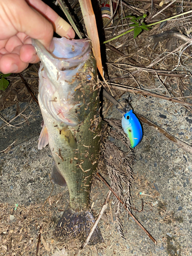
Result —
<path fill-rule="evenodd" d="M 143 14 L 143 16 L 135 17 L 133 15 L 128 15 L 124 18 L 132 18 L 130 21 L 134 24 L 130 24 L 130 27 L 134 28 L 134 39 L 141 33 L 141 31 L 148 30 L 148 26 L 144 23 L 144 19 L 146 17 L 146 14 Z"/>

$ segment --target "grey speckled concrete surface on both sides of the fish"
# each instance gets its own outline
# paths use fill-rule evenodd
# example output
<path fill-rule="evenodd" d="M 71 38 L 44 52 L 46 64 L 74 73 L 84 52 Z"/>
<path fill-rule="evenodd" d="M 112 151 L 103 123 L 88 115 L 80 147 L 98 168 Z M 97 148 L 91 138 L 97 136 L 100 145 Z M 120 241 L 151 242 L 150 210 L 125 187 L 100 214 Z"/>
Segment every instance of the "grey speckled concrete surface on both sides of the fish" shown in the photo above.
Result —
<path fill-rule="evenodd" d="M 132 99 L 136 112 L 191 144 L 192 115 L 185 108 L 157 98 L 132 95 Z M 41 115 L 39 109 L 35 108 L 34 105 L 29 126 L 24 123 L 20 128 L 5 126 L 1 129 L 0 151 L 15 139 L 17 141 L 8 153 L 0 153 L 0 203 L 27 206 L 44 202 L 50 194 L 52 158 L 49 147 L 37 150 Z M 10 120 L 15 110 L 15 106 L 12 106 L 1 114 Z M 30 113 L 31 107 L 24 114 L 28 116 Z M 108 117 L 120 118 L 114 109 Z M 16 121 L 22 121 L 22 117 Z M 116 224 L 110 223 L 106 228 L 106 224 L 101 221 L 99 227 L 106 249 L 100 248 L 98 255 L 192 255 L 192 156 L 145 124 L 143 134 L 141 143 L 135 149 L 135 181 L 131 194 L 132 205 L 141 209 L 142 198 L 144 208 L 141 212 L 133 210 L 133 214 L 157 240 L 157 245 L 123 210 L 122 223 L 126 240 L 119 237 Z M 101 191 L 98 198 L 101 204 L 108 191 L 103 189 L 104 192 Z M 61 191 L 62 188 L 55 186 L 53 194 Z"/>

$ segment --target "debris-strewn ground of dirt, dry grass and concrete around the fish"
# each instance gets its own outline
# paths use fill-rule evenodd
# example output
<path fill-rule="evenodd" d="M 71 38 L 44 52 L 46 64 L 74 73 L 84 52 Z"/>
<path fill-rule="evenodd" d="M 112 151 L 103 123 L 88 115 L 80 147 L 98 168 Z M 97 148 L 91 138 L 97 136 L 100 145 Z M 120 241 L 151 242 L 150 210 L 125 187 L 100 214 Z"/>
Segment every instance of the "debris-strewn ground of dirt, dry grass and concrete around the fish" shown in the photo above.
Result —
<path fill-rule="evenodd" d="M 159 3 L 154 2 L 153 15 L 161 10 Z M 152 18 L 149 14 L 151 1 L 130 1 L 129 5 L 142 14 L 148 13 L 146 24 L 174 16 L 182 10 L 188 11 L 192 6 L 186 1 L 181 10 L 180 2 L 176 1 Z M 78 8 L 77 5 L 77 14 Z M 138 16 L 124 4 L 123 10 L 125 15 Z M 121 15 L 120 9 L 118 15 Z M 118 15 L 114 25 L 118 22 Z M 130 23 L 130 19 L 127 22 Z M 126 19 L 123 23 L 124 27 L 118 27 L 113 36 L 114 25 L 107 27 L 104 40 L 126 31 Z M 190 38 L 190 27 L 191 18 L 180 17 L 167 21 L 164 26 L 154 25 L 136 39 L 133 39 L 131 32 L 110 41 L 109 44 L 116 49 L 102 46 L 102 54 L 106 55 L 105 77 L 116 99 L 124 105 L 125 99 L 131 96 L 136 113 L 186 145 L 185 149 L 180 148 L 178 143 L 168 140 L 166 133 L 162 134 L 158 126 L 152 130 L 151 126 L 142 122 L 143 139 L 132 151 L 135 156 L 132 167 L 134 179 L 130 187 L 132 213 L 157 244 L 123 208 L 120 219 L 125 239 L 120 237 L 115 221 L 114 199 L 111 197 L 98 224 L 104 243 L 87 246 L 80 255 L 192 255 L 192 151 L 190 147 L 186 151 L 187 145 L 191 146 L 192 138 L 191 46 L 186 44 L 168 54 L 184 41 L 175 38 L 171 42 L 168 38 L 156 45 L 151 37 L 177 30 Z M 173 46 L 172 49 L 170 46 Z M 39 64 L 31 65 L 22 72 L 36 96 L 38 68 Z M 10 85 L 7 90 L 0 91 L 0 255 L 37 255 L 38 246 L 38 255 L 74 255 L 81 245 L 79 241 L 65 243 L 53 236 L 58 219 L 69 202 L 69 193 L 67 188 L 51 182 L 53 160 L 49 147 L 41 151 L 37 149 L 42 121 L 39 107 L 18 74 L 11 74 L 8 80 Z M 103 105 L 103 118 L 121 119 L 120 113 L 104 98 Z M 116 144 L 126 150 L 121 142 Z M 102 175 L 110 183 L 106 170 Z M 91 191 L 95 217 L 108 191 L 104 183 L 95 177 Z"/>

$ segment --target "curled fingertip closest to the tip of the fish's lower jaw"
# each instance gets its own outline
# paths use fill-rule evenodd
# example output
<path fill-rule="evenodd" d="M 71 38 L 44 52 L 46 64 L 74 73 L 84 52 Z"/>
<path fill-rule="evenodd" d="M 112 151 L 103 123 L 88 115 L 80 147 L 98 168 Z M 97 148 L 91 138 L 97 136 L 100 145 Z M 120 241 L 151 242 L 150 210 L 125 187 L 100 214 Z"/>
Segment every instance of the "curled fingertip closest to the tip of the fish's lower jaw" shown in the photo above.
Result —
<path fill-rule="evenodd" d="M 38 55 L 32 45 L 24 45 L 20 48 L 20 59 L 26 63 L 37 63 Z"/>

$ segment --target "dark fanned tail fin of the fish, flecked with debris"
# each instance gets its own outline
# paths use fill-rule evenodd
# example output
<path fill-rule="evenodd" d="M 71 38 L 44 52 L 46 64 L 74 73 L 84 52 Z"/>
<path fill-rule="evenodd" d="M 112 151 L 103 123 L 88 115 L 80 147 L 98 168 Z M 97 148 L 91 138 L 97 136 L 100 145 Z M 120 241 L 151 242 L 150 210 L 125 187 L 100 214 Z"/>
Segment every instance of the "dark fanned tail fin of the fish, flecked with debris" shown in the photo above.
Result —
<path fill-rule="evenodd" d="M 75 212 L 68 207 L 59 220 L 54 234 L 56 237 L 64 238 L 66 241 L 76 238 L 84 241 L 87 239 L 94 223 L 94 217 L 89 210 Z M 98 243 L 103 243 L 103 238 L 99 228 L 96 227 L 88 244 L 94 245 Z"/>

